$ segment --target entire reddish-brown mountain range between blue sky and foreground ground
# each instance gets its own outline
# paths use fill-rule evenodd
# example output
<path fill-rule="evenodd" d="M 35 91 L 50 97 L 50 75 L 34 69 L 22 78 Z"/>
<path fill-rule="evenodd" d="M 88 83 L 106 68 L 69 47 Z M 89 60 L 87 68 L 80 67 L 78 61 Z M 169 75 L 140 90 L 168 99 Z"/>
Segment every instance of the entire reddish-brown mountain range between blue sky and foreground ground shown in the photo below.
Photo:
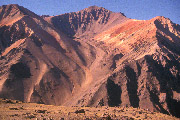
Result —
<path fill-rule="evenodd" d="M 0 97 L 179 116 L 180 26 L 91 6 L 38 16 L 0 8 Z"/>

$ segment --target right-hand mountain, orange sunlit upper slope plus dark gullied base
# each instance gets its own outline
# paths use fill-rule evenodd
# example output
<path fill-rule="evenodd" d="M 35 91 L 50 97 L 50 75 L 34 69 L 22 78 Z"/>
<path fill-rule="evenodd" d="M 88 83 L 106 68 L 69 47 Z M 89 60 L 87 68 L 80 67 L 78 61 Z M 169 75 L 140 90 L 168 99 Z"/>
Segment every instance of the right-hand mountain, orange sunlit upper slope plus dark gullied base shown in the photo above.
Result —
<path fill-rule="evenodd" d="M 114 71 L 105 83 L 108 104 L 179 116 L 179 30 L 169 19 L 156 17 L 129 20 L 95 37 L 116 49 Z"/>

